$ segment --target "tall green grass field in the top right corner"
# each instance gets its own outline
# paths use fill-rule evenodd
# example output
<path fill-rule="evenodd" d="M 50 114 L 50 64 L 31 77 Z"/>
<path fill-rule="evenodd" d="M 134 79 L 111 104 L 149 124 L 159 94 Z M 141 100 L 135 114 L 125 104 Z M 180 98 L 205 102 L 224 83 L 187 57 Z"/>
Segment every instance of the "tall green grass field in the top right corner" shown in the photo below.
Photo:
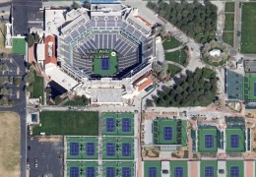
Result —
<path fill-rule="evenodd" d="M 256 53 L 256 3 L 243 3 L 241 53 Z"/>

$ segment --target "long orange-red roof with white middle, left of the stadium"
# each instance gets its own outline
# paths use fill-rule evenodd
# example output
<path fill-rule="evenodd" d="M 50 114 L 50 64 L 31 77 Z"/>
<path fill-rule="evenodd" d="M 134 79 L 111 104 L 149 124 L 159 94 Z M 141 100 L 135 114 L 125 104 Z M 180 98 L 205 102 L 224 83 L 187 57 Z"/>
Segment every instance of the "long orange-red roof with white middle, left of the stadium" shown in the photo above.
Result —
<path fill-rule="evenodd" d="M 56 46 L 55 46 L 55 36 L 48 35 L 44 38 L 45 44 L 45 60 L 44 64 L 53 63 L 57 64 L 56 58 Z"/>

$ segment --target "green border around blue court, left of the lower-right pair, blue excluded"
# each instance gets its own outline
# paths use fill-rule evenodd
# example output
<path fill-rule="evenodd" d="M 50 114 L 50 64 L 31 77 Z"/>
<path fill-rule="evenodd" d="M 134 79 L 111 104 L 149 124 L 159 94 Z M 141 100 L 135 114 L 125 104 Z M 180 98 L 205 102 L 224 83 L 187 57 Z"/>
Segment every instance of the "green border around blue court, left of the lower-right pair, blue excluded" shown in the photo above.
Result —
<path fill-rule="evenodd" d="M 205 148 L 205 136 L 206 135 L 214 136 L 214 147 L 213 148 Z M 217 129 L 199 129 L 198 136 L 199 136 L 199 140 L 198 140 L 199 151 L 201 151 L 201 152 L 217 151 Z"/>

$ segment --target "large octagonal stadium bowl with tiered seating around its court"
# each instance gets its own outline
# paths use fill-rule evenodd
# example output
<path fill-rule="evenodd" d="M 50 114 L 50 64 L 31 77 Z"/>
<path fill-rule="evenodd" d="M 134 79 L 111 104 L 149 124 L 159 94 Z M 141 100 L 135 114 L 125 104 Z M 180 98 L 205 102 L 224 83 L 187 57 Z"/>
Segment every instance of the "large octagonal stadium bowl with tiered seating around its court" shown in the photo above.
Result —
<path fill-rule="evenodd" d="M 136 10 L 120 4 L 93 4 L 90 13 L 83 12 L 63 25 L 58 36 L 58 60 L 67 73 L 78 80 L 123 79 L 150 65 L 155 35 Z M 105 50 L 115 55 L 96 55 Z"/>

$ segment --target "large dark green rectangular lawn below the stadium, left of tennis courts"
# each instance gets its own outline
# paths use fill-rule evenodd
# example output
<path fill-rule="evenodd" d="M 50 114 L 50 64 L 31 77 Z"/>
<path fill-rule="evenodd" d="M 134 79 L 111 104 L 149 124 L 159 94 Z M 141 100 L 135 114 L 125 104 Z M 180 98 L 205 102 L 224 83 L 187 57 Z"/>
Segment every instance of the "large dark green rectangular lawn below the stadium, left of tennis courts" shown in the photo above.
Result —
<path fill-rule="evenodd" d="M 33 135 L 98 135 L 98 112 L 42 111 L 40 123 L 32 129 Z"/>

